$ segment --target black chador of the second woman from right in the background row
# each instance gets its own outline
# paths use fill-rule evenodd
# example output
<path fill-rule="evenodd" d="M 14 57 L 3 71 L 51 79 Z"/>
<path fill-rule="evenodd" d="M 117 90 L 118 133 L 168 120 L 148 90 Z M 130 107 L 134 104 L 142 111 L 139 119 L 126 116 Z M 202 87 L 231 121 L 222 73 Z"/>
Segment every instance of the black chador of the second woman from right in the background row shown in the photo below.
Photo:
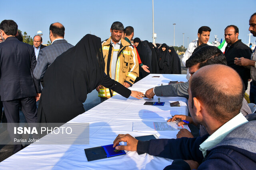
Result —
<path fill-rule="evenodd" d="M 166 47 L 166 50 L 163 51 L 162 47 Z M 162 44 L 159 48 L 159 53 L 158 53 L 158 65 L 159 65 L 159 70 L 160 74 L 172 74 L 170 72 L 170 53 L 168 51 L 166 43 Z"/>

